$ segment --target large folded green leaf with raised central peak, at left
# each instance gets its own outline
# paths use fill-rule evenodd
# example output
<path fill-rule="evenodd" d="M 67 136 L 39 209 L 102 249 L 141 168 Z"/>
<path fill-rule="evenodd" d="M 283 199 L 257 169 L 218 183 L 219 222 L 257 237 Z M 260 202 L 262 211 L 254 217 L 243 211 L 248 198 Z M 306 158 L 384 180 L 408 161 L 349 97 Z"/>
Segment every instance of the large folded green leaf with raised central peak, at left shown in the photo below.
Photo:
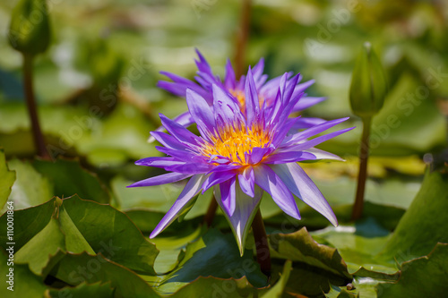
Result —
<path fill-rule="evenodd" d="M 34 224 L 34 220 L 38 220 Z M 5 226 L 6 217 L 0 217 Z M 14 213 L 17 261 L 30 264 L 38 274 L 56 251 L 102 253 L 134 271 L 155 275 L 153 264 L 158 254 L 154 244 L 142 235 L 125 214 L 77 196 Z M 27 226 L 31 225 L 31 226 Z M 25 227 L 26 226 L 26 227 Z M 5 235 L 2 235 L 6 243 Z M 45 249 L 43 249 L 45 248 Z M 36 252 L 37 251 L 37 252 Z"/>

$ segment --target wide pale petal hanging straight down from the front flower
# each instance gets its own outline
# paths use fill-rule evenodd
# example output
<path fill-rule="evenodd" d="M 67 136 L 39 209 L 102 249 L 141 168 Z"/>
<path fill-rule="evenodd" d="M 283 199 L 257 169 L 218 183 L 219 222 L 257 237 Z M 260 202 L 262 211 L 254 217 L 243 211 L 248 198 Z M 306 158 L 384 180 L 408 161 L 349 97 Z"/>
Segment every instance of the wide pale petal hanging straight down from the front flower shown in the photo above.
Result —
<path fill-rule="evenodd" d="M 220 192 L 221 187 L 223 187 L 222 184 L 220 184 L 220 186 L 215 185 L 215 198 L 220 205 L 220 208 L 223 210 L 224 216 L 228 219 L 228 223 L 232 228 L 232 232 L 237 239 L 239 251 L 241 255 L 243 255 L 245 251 L 246 237 L 249 232 L 250 226 L 252 225 L 252 221 L 254 220 L 256 211 L 259 208 L 263 191 L 260 189 L 260 187 L 255 186 L 254 198 L 252 198 L 247 196 L 246 193 L 242 192 L 238 183 L 236 183 L 235 199 L 226 199 L 234 200 L 236 205 L 234 213 L 232 215 L 229 215 L 228 209 L 226 209 L 226 207 L 224 207 L 224 204 L 222 203 L 222 196 Z M 228 191 L 228 195 L 232 195 L 233 193 L 234 192 Z"/>

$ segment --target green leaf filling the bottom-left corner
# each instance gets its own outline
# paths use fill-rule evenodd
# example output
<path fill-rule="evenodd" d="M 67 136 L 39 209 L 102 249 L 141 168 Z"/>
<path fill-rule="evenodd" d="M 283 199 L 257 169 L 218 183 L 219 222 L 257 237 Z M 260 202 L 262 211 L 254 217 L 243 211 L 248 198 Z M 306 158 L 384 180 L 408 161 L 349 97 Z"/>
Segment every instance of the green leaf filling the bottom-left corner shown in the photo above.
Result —
<path fill-rule="evenodd" d="M 7 265 L 8 257 L 4 252 L 0 252 L 0 275 L 2 276 L 2 286 L 0 286 L 0 296 L 2 297 L 43 297 L 47 287 L 43 284 L 41 277 L 35 276 L 27 265 L 13 264 Z M 9 284 L 10 268 L 13 268 L 13 283 Z M 13 291 L 8 287 L 13 285 Z"/>

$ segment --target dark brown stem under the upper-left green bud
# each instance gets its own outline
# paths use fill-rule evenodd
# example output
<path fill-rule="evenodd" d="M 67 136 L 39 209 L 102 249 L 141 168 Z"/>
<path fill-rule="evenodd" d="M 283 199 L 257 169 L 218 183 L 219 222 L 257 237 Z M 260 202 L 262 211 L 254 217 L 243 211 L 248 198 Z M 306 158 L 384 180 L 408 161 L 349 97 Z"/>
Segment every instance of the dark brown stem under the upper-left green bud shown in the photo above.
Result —
<path fill-rule="evenodd" d="M 30 116 L 34 145 L 38 150 L 39 157 L 49 159 L 47 149 L 45 148 L 44 136 L 40 130 L 36 99 L 34 98 L 34 89 L 32 84 L 32 62 L 32 55 L 23 55 L 23 89 L 27 101 L 28 114 Z"/>

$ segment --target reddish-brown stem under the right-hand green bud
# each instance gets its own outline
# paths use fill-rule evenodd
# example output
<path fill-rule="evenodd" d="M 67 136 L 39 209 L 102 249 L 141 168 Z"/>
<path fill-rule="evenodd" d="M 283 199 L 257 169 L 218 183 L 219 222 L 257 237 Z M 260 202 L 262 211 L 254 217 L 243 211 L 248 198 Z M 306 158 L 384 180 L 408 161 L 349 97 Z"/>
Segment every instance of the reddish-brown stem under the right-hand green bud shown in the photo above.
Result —
<path fill-rule="evenodd" d="M 359 152 L 358 187 L 355 204 L 351 213 L 351 220 L 361 218 L 364 206 L 364 192 L 366 191 L 367 159 L 369 154 L 369 136 L 372 117 L 363 118 L 363 135 L 361 137 L 361 150 Z"/>

